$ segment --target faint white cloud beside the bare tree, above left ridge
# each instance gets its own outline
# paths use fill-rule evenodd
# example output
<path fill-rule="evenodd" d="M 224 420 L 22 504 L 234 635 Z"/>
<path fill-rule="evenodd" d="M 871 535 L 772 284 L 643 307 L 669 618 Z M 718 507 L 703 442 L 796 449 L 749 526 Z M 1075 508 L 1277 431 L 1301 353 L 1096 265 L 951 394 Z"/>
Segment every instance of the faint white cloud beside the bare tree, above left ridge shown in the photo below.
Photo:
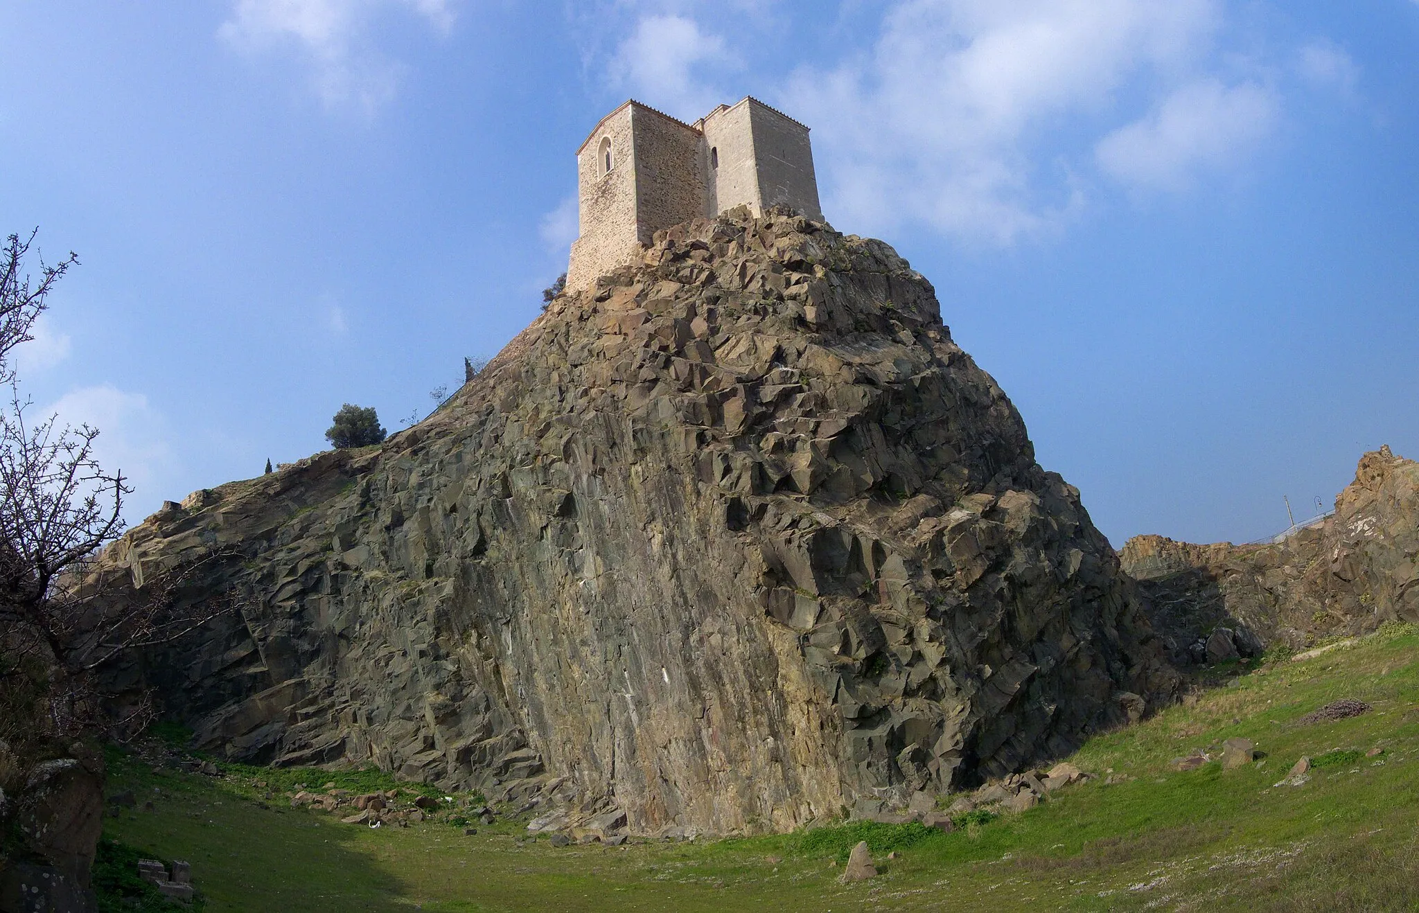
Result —
<path fill-rule="evenodd" d="M 146 513 L 158 500 L 172 496 L 163 491 L 175 468 L 167 422 L 142 393 L 126 393 L 112 384 L 79 387 L 40 414 L 57 415 L 60 427 L 98 428 L 94 442 L 98 462 L 106 472 L 122 471 L 128 478 L 133 488 L 131 505 L 142 505 Z M 125 513 L 129 522 L 142 519 Z"/>

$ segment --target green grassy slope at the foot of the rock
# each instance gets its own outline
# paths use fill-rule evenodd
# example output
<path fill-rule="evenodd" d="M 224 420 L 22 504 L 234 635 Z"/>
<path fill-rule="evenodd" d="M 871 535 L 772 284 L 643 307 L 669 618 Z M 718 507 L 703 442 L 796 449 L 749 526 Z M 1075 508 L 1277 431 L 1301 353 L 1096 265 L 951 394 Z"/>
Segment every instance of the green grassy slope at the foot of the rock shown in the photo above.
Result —
<path fill-rule="evenodd" d="M 1338 698 L 1374 712 L 1298 724 Z M 1230 736 L 1252 767 L 1179 773 L 1169 761 Z M 1301 756 L 1379 747 L 1276 787 Z M 192 862 L 207 910 L 863 910 L 1419 909 L 1419 632 L 1389 629 L 1307 662 L 1240 675 L 1192 706 L 1091 740 L 1074 758 L 1100 780 L 1023 815 L 932 835 L 843 886 L 830 865 L 863 834 L 555 849 L 519 825 L 342 825 L 274 802 L 253 773 L 223 780 L 118 764 L 114 788 L 155 798 L 106 835 Z M 1115 778 L 1105 785 L 1105 771 Z M 282 771 L 280 777 L 295 777 Z M 333 775 L 304 775 L 316 784 Z M 272 785 L 277 785 L 272 783 Z M 353 785 L 353 784 L 352 784 Z M 153 790 L 159 792 L 153 792 Z M 910 844 L 885 825 L 870 841 Z"/>

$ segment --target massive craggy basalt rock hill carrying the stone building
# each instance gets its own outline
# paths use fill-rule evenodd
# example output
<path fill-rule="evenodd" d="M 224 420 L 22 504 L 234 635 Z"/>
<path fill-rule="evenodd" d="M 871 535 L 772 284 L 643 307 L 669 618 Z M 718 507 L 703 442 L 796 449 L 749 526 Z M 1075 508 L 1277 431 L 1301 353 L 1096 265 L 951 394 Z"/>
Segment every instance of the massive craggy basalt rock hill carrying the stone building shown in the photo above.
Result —
<path fill-rule="evenodd" d="M 228 617 L 115 669 L 200 744 L 790 828 L 1069 751 L 1174 673 L 1078 492 L 880 241 L 744 211 L 556 299 L 440 411 L 169 505 Z M 194 598 L 201 598 L 200 593 Z"/>

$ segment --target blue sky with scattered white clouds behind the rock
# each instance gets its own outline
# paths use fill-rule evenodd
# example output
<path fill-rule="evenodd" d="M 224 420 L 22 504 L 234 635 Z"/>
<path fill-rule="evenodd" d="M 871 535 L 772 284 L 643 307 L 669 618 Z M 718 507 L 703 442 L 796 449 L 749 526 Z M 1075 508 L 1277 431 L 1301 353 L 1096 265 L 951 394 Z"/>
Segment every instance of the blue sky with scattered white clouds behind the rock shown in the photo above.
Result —
<path fill-rule="evenodd" d="M 1115 546 L 1249 540 L 1419 456 L 1419 1 L 0 3 L 21 357 L 163 499 L 392 431 L 531 322 L 627 96 L 813 128 Z"/>

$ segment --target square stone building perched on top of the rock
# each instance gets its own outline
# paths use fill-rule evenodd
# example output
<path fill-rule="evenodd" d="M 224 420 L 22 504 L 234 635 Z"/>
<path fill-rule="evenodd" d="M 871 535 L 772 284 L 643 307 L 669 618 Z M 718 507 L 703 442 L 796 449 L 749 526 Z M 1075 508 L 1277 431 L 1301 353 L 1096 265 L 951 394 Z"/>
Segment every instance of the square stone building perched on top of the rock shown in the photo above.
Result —
<path fill-rule="evenodd" d="M 576 150 L 580 237 L 568 291 L 631 262 L 661 228 L 748 206 L 822 218 L 807 128 L 755 98 L 694 123 L 636 101 L 602 118 Z"/>

